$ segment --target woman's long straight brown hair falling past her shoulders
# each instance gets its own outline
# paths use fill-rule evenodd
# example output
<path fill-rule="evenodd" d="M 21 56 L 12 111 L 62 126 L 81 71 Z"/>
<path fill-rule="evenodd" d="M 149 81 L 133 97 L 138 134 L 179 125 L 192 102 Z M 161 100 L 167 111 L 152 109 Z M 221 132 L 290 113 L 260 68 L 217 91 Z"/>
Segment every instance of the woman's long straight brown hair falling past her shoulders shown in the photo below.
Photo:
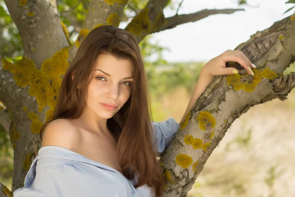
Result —
<path fill-rule="evenodd" d="M 41 140 L 42 132 L 51 121 L 60 118 L 76 119 L 81 116 L 86 102 L 89 77 L 100 53 L 130 59 L 134 64 L 131 96 L 107 121 L 108 128 L 118 143 L 118 161 L 122 172 L 128 179 L 134 177 L 134 172 L 139 173 L 138 184 L 135 187 L 147 184 L 154 189 L 156 197 L 162 196 L 164 179 L 153 148 L 155 139 L 151 134 L 152 118 L 146 71 L 137 41 L 122 29 L 101 26 L 86 36 L 63 77 L 53 115 L 41 128 Z"/>

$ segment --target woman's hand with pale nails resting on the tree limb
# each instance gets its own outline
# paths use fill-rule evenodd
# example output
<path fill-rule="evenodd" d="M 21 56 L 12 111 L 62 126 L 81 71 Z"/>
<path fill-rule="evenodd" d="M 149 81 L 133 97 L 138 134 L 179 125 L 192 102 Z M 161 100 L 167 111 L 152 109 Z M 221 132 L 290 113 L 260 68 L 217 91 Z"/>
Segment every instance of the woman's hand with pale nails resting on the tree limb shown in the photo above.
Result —
<path fill-rule="evenodd" d="M 249 75 L 254 75 L 252 68 L 256 68 L 254 64 L 245 56 L 242 51 L 227 50 L 221 55 L 211 59 L 203 69 L 210 75 L 224 75 L 224 74 L 237 74 L 238 71 L 234 67 L 226 67 L 226 62 L 237 62 L 243 66 Z"/>

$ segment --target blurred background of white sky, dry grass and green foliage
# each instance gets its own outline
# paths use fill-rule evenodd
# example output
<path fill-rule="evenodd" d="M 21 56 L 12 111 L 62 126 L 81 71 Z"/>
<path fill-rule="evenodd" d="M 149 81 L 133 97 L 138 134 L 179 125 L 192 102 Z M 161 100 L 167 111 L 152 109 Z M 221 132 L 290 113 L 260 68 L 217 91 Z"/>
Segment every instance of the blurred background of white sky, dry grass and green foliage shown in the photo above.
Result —
<path fill-rule="evenodd" d="M 75 42 L 89 0 L 57 0 L 60 18 Z M 124 10 L 130 22 L 147 0 L 131 0 Z M 148 71 L 154 121 L 180 121 L 202 67 L 250 35 L 294 13 L 295 0 L 171 0 L 165 17 L 203 9 L 244 8 L 154 33 L 141 43 Z M 289 11 L 287 11 L 289 10 Z M 287 11 L 287 13 L 285 13 Z M 80 29 L 79 29 L 80 28 Z M 0 55 L 22 58 L 20 36 L 0 0 Z M 295 72 L 290 65 L 284 74 Z M 0 103 L 0 110 L 3 105 Z M 285 101 L 274 99 L 241 115 L 213 151 L 189 197 L 295 197 L 295 91 Z M 11 189 L 13 149 L 0 125 L 0 182 Z"/>

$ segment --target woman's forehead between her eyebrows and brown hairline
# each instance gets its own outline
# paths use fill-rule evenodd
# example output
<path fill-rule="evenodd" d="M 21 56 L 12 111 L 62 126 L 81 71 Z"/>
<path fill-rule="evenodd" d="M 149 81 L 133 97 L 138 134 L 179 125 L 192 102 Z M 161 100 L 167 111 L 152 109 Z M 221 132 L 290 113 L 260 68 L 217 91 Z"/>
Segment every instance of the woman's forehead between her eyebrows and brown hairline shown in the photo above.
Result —
<path fill-rule="evenodd" d="M 129 58 L 122 59 L 109 53 L 102 53 L 97 56 L 93 70 L 98 68 L 109 72 L 117 72 L 117 74 L 120 72 L 133 73 L 134 64 Z"/>

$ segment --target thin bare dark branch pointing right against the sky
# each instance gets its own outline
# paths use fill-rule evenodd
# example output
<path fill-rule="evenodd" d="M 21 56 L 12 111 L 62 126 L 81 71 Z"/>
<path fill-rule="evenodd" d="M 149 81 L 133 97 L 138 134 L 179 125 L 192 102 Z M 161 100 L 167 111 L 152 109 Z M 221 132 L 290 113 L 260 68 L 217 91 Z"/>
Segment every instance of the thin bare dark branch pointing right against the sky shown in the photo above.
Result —
<path fill-rule="evenodd" d="M 168 30 L 175 28 L 178 25 L 189 23 L 189 22 L 195 22 L 198 20 L 201 20 L 203 18 L 206 18 L 207 16 L 214 15 L 214 14 L 232 14 L 236 11 L 241 11 L 244 9 L 204 9 L 202 11 L 192 13 L 192 14 L 181 14 L 181 15 L 175 15 L 173 17 L 166 18 L 167 23 L 162 26 L 162 28 L 158 31 Z M 152 32 L 155 33 L 155 32 Z"/>

